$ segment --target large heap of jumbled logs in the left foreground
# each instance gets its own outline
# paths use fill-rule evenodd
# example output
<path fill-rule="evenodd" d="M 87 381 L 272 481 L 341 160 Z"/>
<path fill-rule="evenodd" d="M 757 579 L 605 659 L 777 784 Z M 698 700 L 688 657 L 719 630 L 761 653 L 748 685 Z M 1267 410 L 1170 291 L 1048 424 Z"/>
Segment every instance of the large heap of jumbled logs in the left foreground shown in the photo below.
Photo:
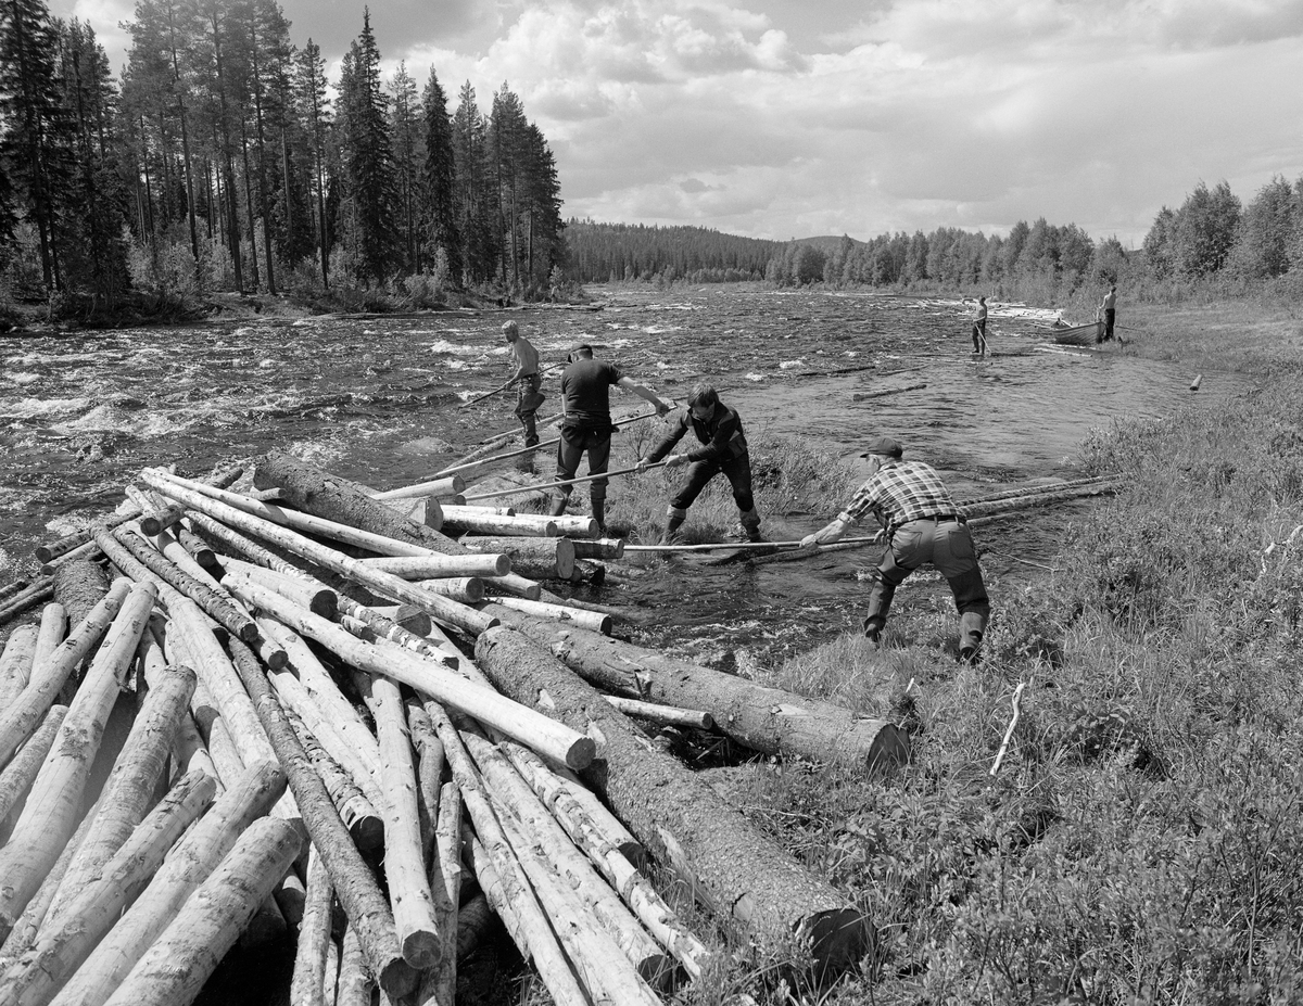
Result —
<path fill-rule="evenodd" d="M 142 470 L 0 599 L 0 1002 L 177 1006 L 289 928 L 294 1002 L 451 1006 L 496 913 L 558 1003 L 657 1003 L 711 947 L 646 856 L 761 953 L 872 950 L 640 721 L 865 771 L 893 725 L 607 635 L 545 586 L 619 556 L 588 519 L 246 474 Z"/>

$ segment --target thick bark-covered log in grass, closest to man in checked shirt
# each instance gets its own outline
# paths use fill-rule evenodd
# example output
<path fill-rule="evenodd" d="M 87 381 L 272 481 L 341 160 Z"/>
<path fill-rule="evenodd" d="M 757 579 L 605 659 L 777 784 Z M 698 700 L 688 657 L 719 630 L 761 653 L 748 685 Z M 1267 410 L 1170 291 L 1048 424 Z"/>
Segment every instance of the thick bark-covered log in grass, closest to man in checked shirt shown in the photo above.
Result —
<path fill-rule="evenodd" d="M 831 702 L 767 688 L 595 632 L 504 615 L 511 624 L 603 691 L 701 709 L 727 736 L 765 754 L 795 754 L 885 770 L 908 761 L 908 735 Z"/>

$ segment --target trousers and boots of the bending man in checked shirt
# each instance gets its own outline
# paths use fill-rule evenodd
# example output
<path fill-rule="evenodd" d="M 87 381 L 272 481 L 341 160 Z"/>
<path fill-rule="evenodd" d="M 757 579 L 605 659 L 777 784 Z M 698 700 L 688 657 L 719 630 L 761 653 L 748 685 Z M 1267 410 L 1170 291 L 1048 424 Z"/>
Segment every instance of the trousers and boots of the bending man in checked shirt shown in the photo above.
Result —
<path fill-rule="evenodd" d="M 972 534 L 956 520 L 912 520 L 891 536 L 891 547 L 873 573 L 865 632 L 881 632 L 887 622 L 891 598 L 906 579 L 924 563 L 937 567 L 950 584 L 959 610 L 959 645 L 976 648 L 990 618 L 990 599 L 977 566 Z"/>

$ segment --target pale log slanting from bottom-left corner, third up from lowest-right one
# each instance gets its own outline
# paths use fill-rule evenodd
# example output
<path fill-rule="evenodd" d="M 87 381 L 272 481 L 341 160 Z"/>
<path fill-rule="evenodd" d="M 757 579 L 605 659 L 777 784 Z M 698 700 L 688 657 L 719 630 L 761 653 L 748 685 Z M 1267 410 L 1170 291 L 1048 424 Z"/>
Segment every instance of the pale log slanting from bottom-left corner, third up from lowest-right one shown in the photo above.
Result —
<path fill-rule="evenodd" d="M 31 951 L 0 981 L 0 997 L 16 1006 L 50 1002 L 150 884 L 172 844 L 212 801 L 215 787 L 203 773 L 182 777 L 104 863 L 103 874 L 85 877 L 64 912 L 51 911 Z M 69 874 L 64 884 L 70 880 Z"/>

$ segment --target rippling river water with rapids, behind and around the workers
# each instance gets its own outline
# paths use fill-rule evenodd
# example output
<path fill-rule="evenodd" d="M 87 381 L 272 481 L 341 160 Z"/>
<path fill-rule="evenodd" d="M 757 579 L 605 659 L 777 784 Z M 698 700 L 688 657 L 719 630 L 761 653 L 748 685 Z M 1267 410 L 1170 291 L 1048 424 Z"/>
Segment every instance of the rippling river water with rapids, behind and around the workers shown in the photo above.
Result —
<path fill-rule="evenodd" d="M 847 459 L 868 433 L 890 433 L 959 496 L 1071 478 L 1091 427 L 1207 408 L 1244 390 L 1243 378 L 1205 374 L 1194 395 L 1192 374 L 1117 351 L 1042 352 L 1044 332 L 1007 319 L 993 326 L 995 356 L 973 362 L 958 302 L 757 288 L 594 293 L 607 298 L 603 310 L 507 317 L 545 364 L 589 341 L 680 399 L 705 377 L 749 431 L 812 437 Z M 461 408 L 509 375 L 503 319 L 448 311 L 0 339 L 0 580 L 38 541 L 116 504 L 122 482 L 149 464 L 198 470 L 279 447 L 378 487 L 427 476 L 512 426 L 506 396 Z M 833 370 L 843 373 L 820 377 Z M 554 401 L 555 381 L 545 379 Z M 919 383 L 926 387 L 876 394 Z M 804 525 L 838 506 L 827 500 Z M 1044 520 L 997 528 L 980 536 L 997 577 L 1029 568 L 1002 564 L 1001 554 L 1045 560 L 1059 534 Z M 705 639 L 747 633 L 780 646 L 830 618 L 850 624 L 853 571 L 866 562 L 851 553 L 799 569 L 691 567 L 691 592 L 681 577 L 648 577 L 607 588 L 605 599 L 674 606 Z"/>

